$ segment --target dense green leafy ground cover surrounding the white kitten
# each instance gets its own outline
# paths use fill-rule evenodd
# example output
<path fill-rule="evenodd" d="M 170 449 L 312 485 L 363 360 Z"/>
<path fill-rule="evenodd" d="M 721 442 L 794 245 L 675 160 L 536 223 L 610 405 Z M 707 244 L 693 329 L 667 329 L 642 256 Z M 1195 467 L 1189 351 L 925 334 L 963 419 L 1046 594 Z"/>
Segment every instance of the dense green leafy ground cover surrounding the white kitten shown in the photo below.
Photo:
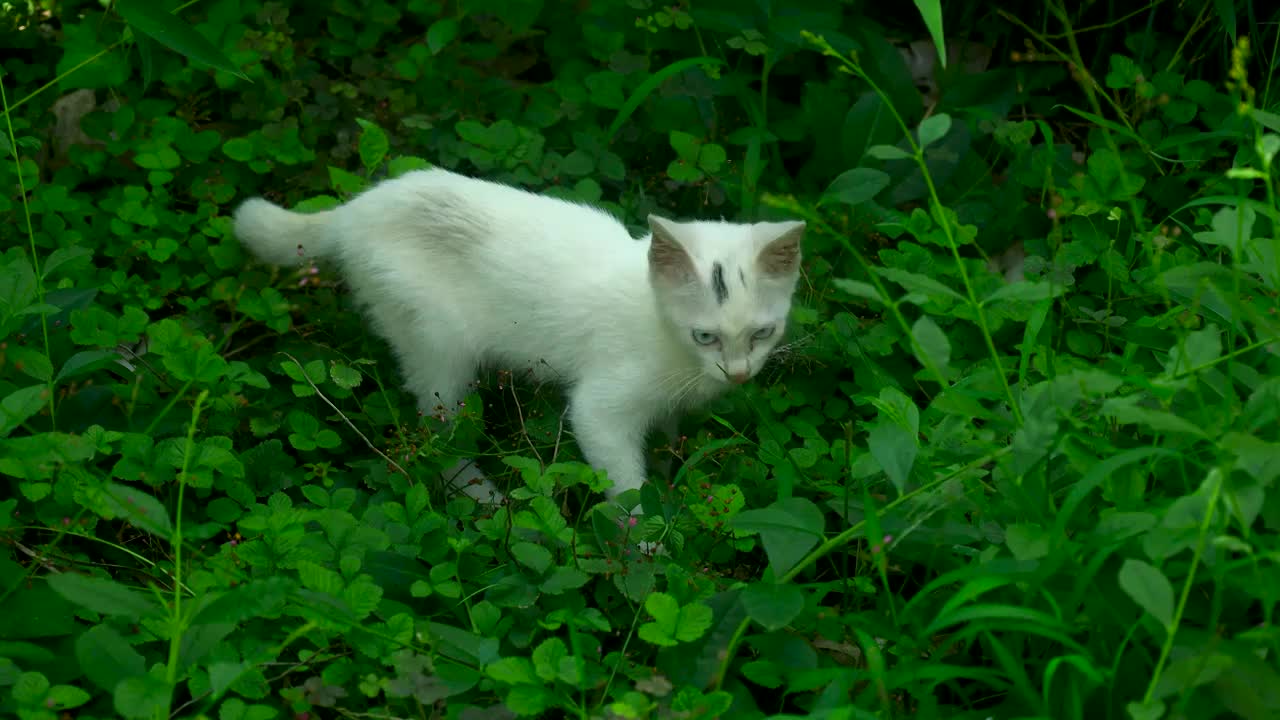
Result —
<path fill-rule="evenodd" d="M 1280 715 L 1277 12 L 901 5 L 0 4 L 0 714 Z M 643 523 L 232 236 L 429 165 L 809 223 Z"/>

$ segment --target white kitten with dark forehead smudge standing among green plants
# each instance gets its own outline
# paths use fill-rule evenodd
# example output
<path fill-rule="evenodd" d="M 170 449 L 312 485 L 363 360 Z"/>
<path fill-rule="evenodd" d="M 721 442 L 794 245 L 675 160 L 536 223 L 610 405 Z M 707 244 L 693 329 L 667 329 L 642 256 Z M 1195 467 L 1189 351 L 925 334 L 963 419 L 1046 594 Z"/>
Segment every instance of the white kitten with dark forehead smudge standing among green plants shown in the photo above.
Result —
<path fill-rule="evenodd" d="M 612 500 L 645 479 L 645 433 L 750 379 L 783 334 L 804 223 L 677 223 L 635 240 L 596 208 L 440 169 L 332 210 L 262 199 L 236 211 L 260 259 L 332 260 L 428 414 L 449 415 L 480 368 L 567 387 L 586 460 Z M 492 491 L 477 471 L 463 471 Z M 476 492 L 479 489 L 479 492 Z"/>

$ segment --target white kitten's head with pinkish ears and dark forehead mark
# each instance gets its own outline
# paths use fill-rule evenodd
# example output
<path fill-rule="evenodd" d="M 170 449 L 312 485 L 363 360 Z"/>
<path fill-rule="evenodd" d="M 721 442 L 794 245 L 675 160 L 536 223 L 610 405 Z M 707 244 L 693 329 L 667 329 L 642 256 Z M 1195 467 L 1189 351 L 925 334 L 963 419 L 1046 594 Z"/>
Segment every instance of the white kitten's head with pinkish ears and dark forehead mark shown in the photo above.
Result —
<path fill-rule="evenodd" d="M 782 340 L 804 223 L 676 223 L 649 215 L 649 282 L 707 375 L 744 383 Z"/>

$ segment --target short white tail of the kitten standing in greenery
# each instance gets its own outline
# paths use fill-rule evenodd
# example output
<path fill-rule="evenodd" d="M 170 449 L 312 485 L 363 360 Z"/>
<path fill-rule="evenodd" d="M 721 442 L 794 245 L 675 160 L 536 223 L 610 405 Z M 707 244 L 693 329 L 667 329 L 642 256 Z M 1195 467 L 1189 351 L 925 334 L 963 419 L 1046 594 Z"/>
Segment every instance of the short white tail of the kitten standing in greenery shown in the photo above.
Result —
<path fill-rule="evenodd" d="M 293 265 L 333 252 L 332 211 L 293 213 L 261 197 L 236 210 L 236 237 L 264 263 Z"/>

